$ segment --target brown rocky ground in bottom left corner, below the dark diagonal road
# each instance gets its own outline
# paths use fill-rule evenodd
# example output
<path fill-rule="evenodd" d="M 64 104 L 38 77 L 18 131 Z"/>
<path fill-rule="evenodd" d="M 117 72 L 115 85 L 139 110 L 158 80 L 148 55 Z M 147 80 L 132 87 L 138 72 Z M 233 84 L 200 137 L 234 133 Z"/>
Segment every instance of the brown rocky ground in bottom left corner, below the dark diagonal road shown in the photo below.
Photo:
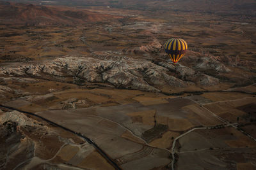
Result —
<path fill-rule="evenodd" d="M 19 111 L 1 112 L 0 122 L 1 169 L 77 169 L 67 162 L 68 157 L 65 152 L 73 150 L 73 153 L 69 152 L 69 154 L 73 156 L 77 154 L 76 159 L 81 159 L 77 164 L 95 152 L 92 146 L 74 134 L 67 133 L 42 120 L 38 122 L 35 118 L 27 117 Z M 79 156 L 81 153 L 84 155 L 83 158 Z M 81 164 L 78 166 L 81 168 L 78 169 L 97 168 L 102 163 L 101 166 L 108 169 L 108 163 L 101 162 L 100 155 L 97 157 L 99 157 L 98 161 L 96 160 L 97 165 L 96 162 L 87 166 Z M 93 164 L 95 164 L 94 167 Z"/>

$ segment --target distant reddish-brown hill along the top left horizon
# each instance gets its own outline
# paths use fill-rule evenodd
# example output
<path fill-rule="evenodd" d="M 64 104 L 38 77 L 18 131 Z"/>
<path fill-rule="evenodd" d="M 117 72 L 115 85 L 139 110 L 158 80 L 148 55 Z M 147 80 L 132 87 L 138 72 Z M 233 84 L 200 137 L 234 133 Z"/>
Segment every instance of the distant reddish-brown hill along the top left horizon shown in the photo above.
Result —
<path fill-rule="evenodd" d="M 74 8 L 0 3 L 1 25 L 74 25 L 119 18 Z"/>

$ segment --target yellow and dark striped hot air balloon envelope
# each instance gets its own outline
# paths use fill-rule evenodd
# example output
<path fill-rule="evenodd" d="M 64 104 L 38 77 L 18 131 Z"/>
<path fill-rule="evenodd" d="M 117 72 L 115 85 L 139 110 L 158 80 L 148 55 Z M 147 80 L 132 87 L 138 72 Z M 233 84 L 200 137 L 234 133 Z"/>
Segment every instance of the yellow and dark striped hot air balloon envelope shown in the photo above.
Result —
<path fill-rule="evenodd" d="M 169 55 L 174 65 L 185 55 L 187 49 L 188 44 L 181 38 L 168 39 L 164 44 L 164 51 Z"/>

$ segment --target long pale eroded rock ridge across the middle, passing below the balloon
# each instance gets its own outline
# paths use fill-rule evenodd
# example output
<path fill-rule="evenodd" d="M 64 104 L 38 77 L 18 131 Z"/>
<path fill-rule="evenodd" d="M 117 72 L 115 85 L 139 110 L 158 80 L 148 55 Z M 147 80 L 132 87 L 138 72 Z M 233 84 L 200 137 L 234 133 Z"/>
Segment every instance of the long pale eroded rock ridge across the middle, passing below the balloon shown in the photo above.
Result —
<path fill-rule="evenodd" d="M 220 68 L 221 69 L 221 68 Z M 186 66 L 170 62 L 155 64 L 150 60 L 132 59 L 109 53 L 93 53 L 93 57 L 60 57 L 41 63 L 12 65 L 0 68 L 2 76 L 29 76 L 65 81 L 73 77 L 82 82 L 106 82 L 117 88 L 159 91 L 158 85 L 186 87 L 191 84 L 215 85 L 217 78 Z M 2 78 L 3 79 L 3 78 Z M 33 81 L 24 79 L 23 81 Z"/>

